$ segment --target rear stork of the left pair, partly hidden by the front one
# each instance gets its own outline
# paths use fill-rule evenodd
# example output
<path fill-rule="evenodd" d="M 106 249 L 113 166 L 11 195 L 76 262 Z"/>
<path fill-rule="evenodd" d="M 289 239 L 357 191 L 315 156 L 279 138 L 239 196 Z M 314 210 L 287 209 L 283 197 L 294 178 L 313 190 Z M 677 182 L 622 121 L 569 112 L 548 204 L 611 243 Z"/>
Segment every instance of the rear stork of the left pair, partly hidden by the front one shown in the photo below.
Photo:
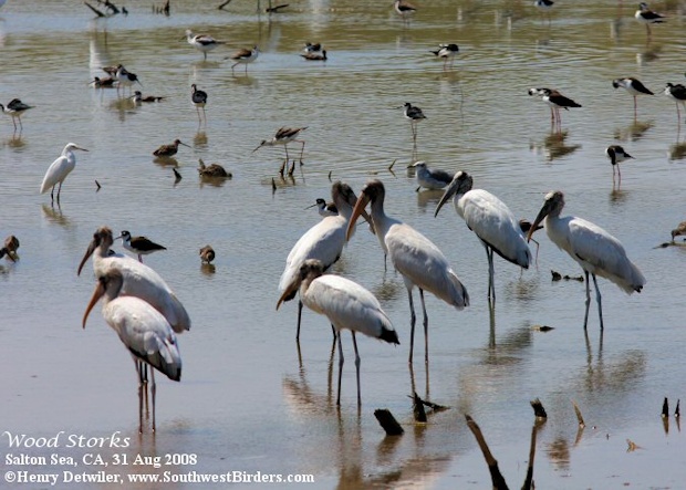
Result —
<path fill-rule="evenodd" d="M 93 240 L 79 264 L 77 274 L 81 274 L 86 260 L 93 256 L 93 271 L 96 277 L 107 275 L 113 270 L 122 275 L 121 296 L 136 296 L 149 303 L 164 315 L 176 333 L 190 330 L 190 317 L 186 309 L 164 279 L 131 257 L 112 253 L 110 250 L 112 243 L 114 243 L 112 230 L 107 227 L 98 228 L 93 233 Z"/>

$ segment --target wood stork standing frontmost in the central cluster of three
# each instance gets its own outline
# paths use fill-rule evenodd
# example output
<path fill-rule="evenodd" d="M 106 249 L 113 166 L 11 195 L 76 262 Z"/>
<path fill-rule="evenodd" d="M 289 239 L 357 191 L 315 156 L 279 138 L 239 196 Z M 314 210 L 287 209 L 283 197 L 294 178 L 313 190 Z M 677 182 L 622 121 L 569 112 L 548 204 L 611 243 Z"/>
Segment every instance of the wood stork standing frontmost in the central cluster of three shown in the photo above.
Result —
<path fill-rule="evenodd" d="M 341 330 L 347 329 L 353 336 L 355 348 L 355 372 L 357 378 L 357 406 L 362 405 L 360 395 L 360 354 L 355 333 L 380 338 L 389 344 L 399 344 L 397 334 L 388 315 L 381 309 L 378 300 L 370 291 L 340 275 L 323 275 L 324 264 L 316 259 L 308 259 L 300 267 L 298 274 L 288 284 L 277 310 L 288 296 L 300 290 L 300 301 L 315 313 L 326 315 L 339 340 L 339 396 L 341 405 L 341 377 L 343 374 L 343 346 Z"/>

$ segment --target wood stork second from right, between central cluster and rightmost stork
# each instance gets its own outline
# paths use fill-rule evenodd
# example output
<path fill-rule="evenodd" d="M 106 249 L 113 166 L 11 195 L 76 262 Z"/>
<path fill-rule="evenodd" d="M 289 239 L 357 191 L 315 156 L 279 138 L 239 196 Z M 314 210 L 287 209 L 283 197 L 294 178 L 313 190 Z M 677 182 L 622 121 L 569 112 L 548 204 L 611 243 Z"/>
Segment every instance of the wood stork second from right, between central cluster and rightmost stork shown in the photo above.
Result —
<path fill-rule="evenodd" d="M 455 210 L 486 248 L 488 298 L 496 301 L 493 252 L 508 262 L 529 269 L 531 251 L 522 236 L 519 222 L 505 202 L 492 194 L 484 189 L 472 189 L 471 186 L 472 178 L 469 174 L 456 173 L 438 201 L 434 217 L 438 216 L 443 205 L 453 197 Z"/>

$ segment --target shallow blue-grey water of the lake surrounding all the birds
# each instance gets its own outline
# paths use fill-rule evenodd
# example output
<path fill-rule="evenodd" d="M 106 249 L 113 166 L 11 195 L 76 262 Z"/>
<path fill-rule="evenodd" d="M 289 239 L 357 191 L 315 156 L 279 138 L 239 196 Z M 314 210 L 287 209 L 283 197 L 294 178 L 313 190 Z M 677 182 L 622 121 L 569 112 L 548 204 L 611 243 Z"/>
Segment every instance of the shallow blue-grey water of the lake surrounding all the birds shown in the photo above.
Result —
<path fill-rule="evenodd" d="M 129 460 L 197 455 L 196 465 L 128 466 L 116 470 L 122 475 L 240 470 L 313 475 L 312 488 L 486 488 L 487 467 L 465 424 L 469 414 L 513 487 L 526 476 L 529 402 L 539 397 L 549 414 L 538 434 L 540 488 L 678 488 L 686 481 L 684 436 L 674 418 L 666 431 L 659 417 L 665 396 L 674 410 L 683 395 L 684 286 L 674 271 L 686 256 L 683 248 L 655 249 L 685 219 L 686 128 L 661 94 L 666 82 L 683 83 L 684 17 L 671 12 L 646 42 L 634 7 L 614 1 L 555 4 L 550 23 L 530 2 L 423 3 L 407 27 L 389 6 L 347 0 L 292 4 L 271 19 L 257 15 L 254 2 L 239 1 L 225 12 L 208 2 L 173 2 L 168 18 L 152 14 L 149 6 L 131 7 L 128 17 L 106 21 L 66 1 L 10 0 L 0 10 L 0 101 L 20 97 L 35 106 L 21 134 L 12 134 L 7 117 L 0 126 L 0 238 L 13 233 L 21 241 L 18 263 L 0 261 L 3 456 L 17 452 L 6 430 L 87 438 L 118 431 L 129 446 L 98 449 L 110 461 L 114 453 Z M 180 41 L 188 28 L 228 46 L 202 61 Z M 324 43 L 330 60 L 300 59 L 305 41 Z M 428 53 L 439 42 L 460 46 L 451 71 Z M 232 75 L 224 59 L 254 43 L 262 54 L 248 75 L 242 66 Z M 138 74 L 144 94 L 168 98 L 135 107 L 114 90 L 87 86 L 101 66 L 118 62 Z M 658 93 L 640 97 L 636 122 L 632 98 L 612 88 L 620 76 L 636 76 Z M 209 94 L 207 127 L 198 127 L 189 104 L 191 83 Z M 583 105 L 563 112 L 562 136 L 551 132 L 548 107 L 527 95 L 531 86 L 554 86 Z M 396 108 L 405 102 L 427 115 L 416 154 Z M 284 125 L 308 126 L 306 146 L 304 165 L 280 180 L 282 148 L 251 152 Z M 191 146 L 177 155 L 178 184 L 170 166 L 152 156 L 175 138 Z M 38 188 L 67 142 L 90 152 L 77 155 L 61 207 L 52 208 Z M 622 167 L 619 191 L 603 154 L 610 144 L 635 157 Z M 233 178 L 200 183 L 198 158 L 220 161 Z M 584 337 L 584 285 L 550 280 L 551 269 L 581 270 L 540 232 L 538 268 L 522 273 L 496 260 L 498 300 L 489 313 L 484 249 L 451 206 L 433 218 L 440 192 L 415 192 L 405 168 L 414 159 L 469 171 L 476 187 L 529 219 L 547 191 L 563 190 L 569 213 L 624 243 L 646 288 L 626 296 L 600 280 L 605 332 L 601 342 L 593 303 Z M 384 273 L 376 239 L 364 227 L 357 231 L 334 270 L 378 296 L 402 343 L 360 340 L 360 414 L 350 336 L 343 338 L 339 411 L 325 319 L 305 311 L 299 358 L 295 305 L 274 310 L 285 257 L 319 219 L 304 208 L 329 197 L 330 173 L 355 190 L 381 178 L 386 211 L 429 237 L 471 296 L 457 312 L 427 295 L 430 369 L 418 348 L 410 372 L 403 281 Z M 98 309 L 85 331 L 80 326 L 94 281 L 75 271 L 101 225 L 168 248 L 145 261 L 193 319 L 193 330 L 179 337 L 181 383 L 158 376 L 154 436 L 149 427 L 137 435 L 134 369 Z M 217 251 L 214 268 L 200 265 L 206 243 Z M 533 331 L 539 324 L 554 330 Z M 413 388 L 451 408 L 413 425 Z M 588 424 L 582 434 L 572 400 Z M 373 416 L 381 407 L 404 425 L 402 438 L 384 438 Z M 640 449 L 627 452 L 626 439 Z M 25 452 L 81 461 L 93 451 Z M 3 475 L 67 469 L 4 460 L 0 467 Z M 160 487 L 167 488 L 136 488 Z"/>

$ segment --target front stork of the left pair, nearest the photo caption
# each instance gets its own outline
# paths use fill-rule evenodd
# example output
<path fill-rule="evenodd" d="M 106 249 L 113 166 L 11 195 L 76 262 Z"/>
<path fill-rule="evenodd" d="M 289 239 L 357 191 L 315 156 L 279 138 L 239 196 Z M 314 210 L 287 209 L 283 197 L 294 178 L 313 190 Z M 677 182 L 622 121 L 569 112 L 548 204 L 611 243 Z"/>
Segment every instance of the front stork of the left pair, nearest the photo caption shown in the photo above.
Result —
<path fill-rule="evenodd" d="M 103 317 L 114 329 L 119 340 L 128 348 L 136 372 L 138 373 L 138 431 L 143 432 L 143 390 L 147 383 L 147 374 L 141 363 L 150 365 L 153 396 L 153 431 L 155 427 L 155 369 L 165 374 L 169 379 L 181 379 L 181 356 L 178 352 L 176 335 L 167 320 L 149 303 L 136 296 L 121 295 L 124 278 L 117 270 L 110 270 L 97 275 L 97 285 L 85 313 L 83 327 L 85 329 L 89 314 L 95 303 L 104 296 Z M 147 388 L 146 388 L 147 393 Z"/>

